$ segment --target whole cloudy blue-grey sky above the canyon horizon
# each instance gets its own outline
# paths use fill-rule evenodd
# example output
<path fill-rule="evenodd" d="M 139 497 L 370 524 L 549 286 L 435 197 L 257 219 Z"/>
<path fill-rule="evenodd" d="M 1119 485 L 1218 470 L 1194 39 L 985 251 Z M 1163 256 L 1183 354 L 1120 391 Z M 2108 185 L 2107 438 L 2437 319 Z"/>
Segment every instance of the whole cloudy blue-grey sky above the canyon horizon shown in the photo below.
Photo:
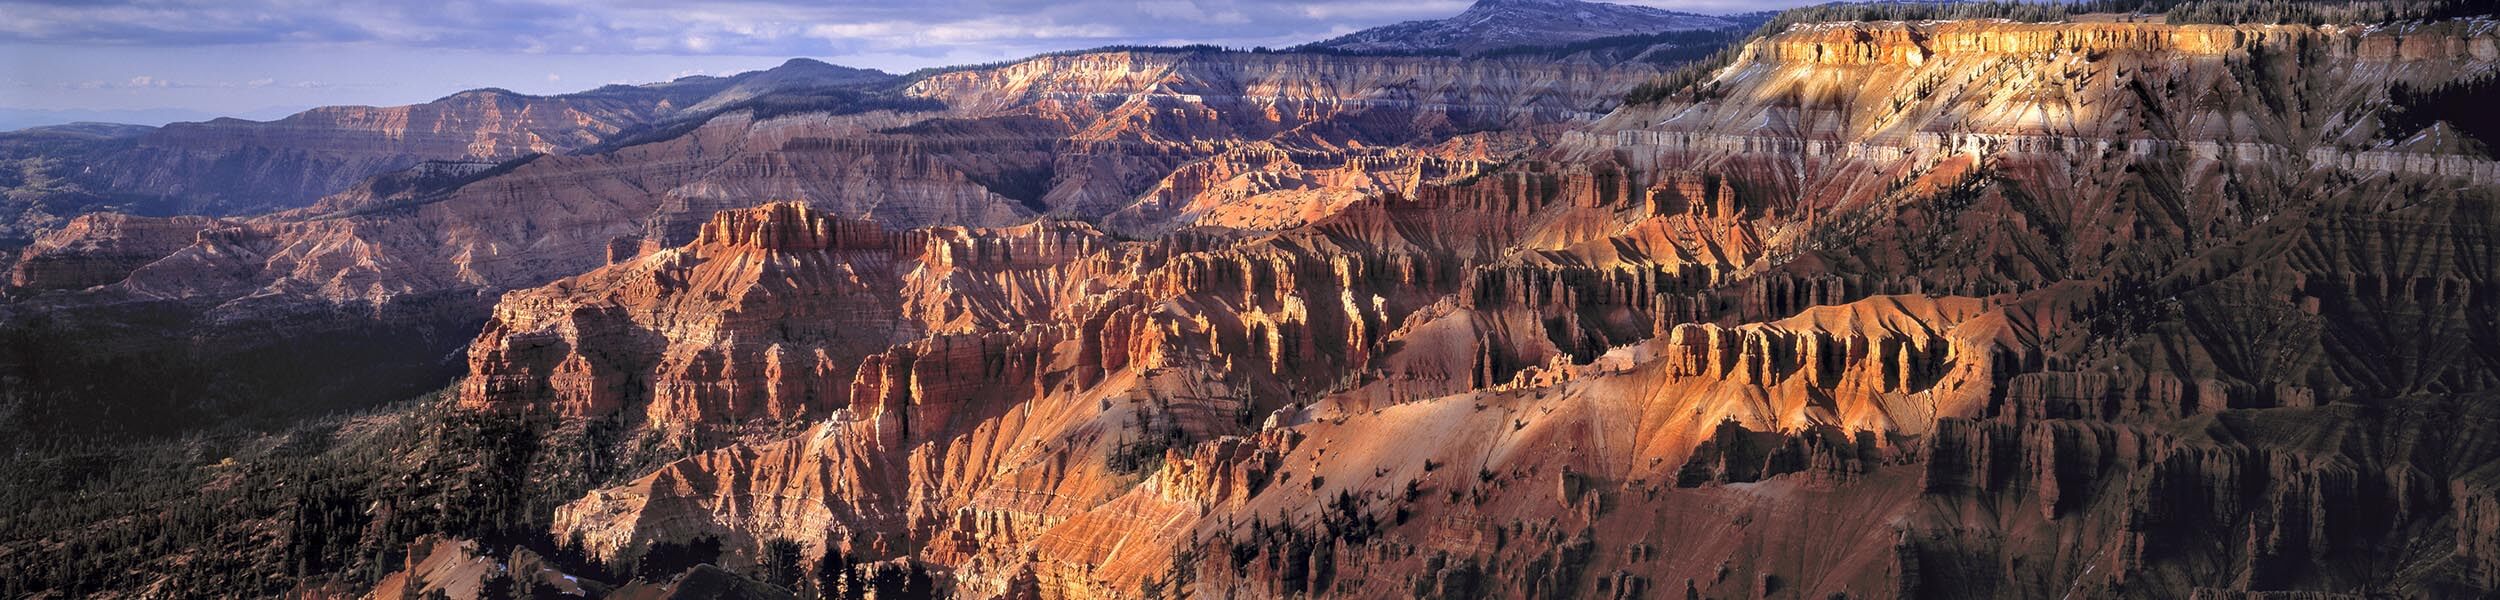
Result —
<path fill-rule="evenodd" d="M 0 0 L 0 120 L 158 125 L 572 92 L 815 58 L 850 68 L 1098 45 L 1298 45 L 1470 0 Z M 1805 0 L 1628 0 L 1748 12 Z"/>

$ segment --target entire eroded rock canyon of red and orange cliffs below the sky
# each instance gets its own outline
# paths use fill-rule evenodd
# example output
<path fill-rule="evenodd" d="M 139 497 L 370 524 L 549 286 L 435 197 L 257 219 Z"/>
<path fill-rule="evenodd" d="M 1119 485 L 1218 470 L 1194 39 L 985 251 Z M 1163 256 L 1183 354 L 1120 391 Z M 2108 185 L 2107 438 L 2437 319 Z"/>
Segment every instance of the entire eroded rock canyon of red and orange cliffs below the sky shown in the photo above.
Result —
<path fill-rule="evenodd" d="M 10 132 L 0 592 L 2492 595 L 2500 22 L 2202 5 Z"/>

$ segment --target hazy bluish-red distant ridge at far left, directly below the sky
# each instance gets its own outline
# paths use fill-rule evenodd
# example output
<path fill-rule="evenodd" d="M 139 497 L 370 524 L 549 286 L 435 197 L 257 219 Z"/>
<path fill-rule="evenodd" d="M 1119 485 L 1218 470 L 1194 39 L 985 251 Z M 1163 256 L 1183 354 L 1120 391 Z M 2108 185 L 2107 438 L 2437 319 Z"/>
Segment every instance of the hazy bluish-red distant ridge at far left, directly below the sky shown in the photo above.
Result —
<path fill-rule="evenodd" d="M 432 102 L 398 108 L 312 108 L 282 120 L 220 118 L 172 122 L 138 135 L 98 138 L 78 145 L 30 145 L 5 158 L 35 160 L 45 178 L 75 182 L 8 182 L 12 205 L 38 215 L 12 215 L 0 232 L 52 225 L 85 210 L 120 205 L 148 215 L 255 215 L 302 208 L 322 195 L 425 160 L 500 162 L 522 155 L 570 152 L 678 115 L 702 115 L 768 92 L 860 88 L 888 82 L 875 70 L 790 60 L 772 70 L 730 78 L 682 78 L 652 85 L 608 85 L 570 95 L 520 95 L 468 90 Z M 52 130 L 8 132 L 35 140 Z"/>

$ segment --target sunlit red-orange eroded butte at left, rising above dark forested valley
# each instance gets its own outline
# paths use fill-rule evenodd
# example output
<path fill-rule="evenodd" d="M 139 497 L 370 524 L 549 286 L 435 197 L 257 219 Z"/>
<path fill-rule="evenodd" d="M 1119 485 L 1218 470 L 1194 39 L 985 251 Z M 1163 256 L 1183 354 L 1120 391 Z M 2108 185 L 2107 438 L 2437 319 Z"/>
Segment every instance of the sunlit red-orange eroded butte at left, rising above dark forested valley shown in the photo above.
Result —
<path fill-rule="evenodd" d="M 1075 222 L 892 232 L 798 202 L 728 210 L 685 248 L 505 295 L 460 398 L 660 428 L 825 415 L 878 398 L 852 390 L 862 360 L 908 368 L 880 352 L 1022 320 L 1098 245 Z"/>

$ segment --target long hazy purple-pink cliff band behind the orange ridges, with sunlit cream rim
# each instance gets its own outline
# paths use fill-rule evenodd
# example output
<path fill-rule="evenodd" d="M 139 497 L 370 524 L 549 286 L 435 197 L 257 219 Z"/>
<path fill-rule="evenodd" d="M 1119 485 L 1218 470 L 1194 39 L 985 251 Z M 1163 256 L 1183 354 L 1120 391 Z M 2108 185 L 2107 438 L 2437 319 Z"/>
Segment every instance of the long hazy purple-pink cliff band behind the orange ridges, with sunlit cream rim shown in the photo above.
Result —
<path fill-rule="evenodd" d="M 1278 198 L 1295 208 L 1280 212 L 1315 218 L 1368 192 L 1480 172 L 1535 140 L 1532 130 L 1592 118 L 1652 72 L 1250 52 L 1035 58 L 912 85 L 910 95 L 940 100 L 945 112 L 728 112 L 660 142 L 500 165 L 492 178 L 450 178 L 450 190 L 418 198 L 358 188 L 325 202 L 330 210 L 235 228 L 232 240 L 270 252 L 240 258 L 258 265 L 238 265 L 245 272 L 232 280 L 188 288 L 142 272 L 128 288 L 202 300 L 282 290 L 328 302 L 528 288 L 602 265 L 612 248 L 682 245 L 712 212 L 768 200 L 898 230 L 1128 210 L 1132 218 L 1105 222 L 1160 232 L 1220 212 L 1230 198 Z M 400 118 L 358 118 L 368 120 Z M 1485 128 L 1522 132 L 1472 135 Z M 1152 208 L 1132 208 L 1140 202 Z M 1218 225 L 1242 228 L 1305 220 L 1218 215 Z M 398 265 L 370 268 L 378 260 Z"/>

